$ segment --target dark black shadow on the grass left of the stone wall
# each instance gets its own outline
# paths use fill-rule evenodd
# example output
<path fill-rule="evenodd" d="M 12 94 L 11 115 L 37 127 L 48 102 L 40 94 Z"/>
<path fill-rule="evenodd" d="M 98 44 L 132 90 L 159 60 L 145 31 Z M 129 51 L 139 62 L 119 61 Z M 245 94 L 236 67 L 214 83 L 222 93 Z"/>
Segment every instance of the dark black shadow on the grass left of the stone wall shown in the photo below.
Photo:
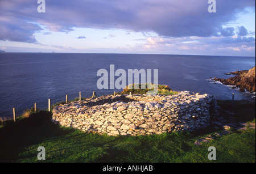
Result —
<path fill-rule="evenodd" d="M 52 113 L 39 111 L 29 117 L 7 121 L 0 129 L 0 162 L 15 162 L 17 154 L 25 147 L 42 143 L 72 133 L 72 129 L 62 129 L 51 122 Z"/>

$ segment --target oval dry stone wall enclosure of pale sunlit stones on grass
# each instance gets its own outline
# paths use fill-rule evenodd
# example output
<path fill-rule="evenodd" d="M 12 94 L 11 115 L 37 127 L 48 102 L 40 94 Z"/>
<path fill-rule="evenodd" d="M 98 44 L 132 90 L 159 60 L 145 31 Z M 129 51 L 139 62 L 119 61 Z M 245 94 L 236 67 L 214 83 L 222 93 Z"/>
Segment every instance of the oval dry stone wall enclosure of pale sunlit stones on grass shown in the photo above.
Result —
<path fill-rule="evenodd" d="M 172 96 L 109 95 L 58 105 L 52 121 L 99 134 L 162 134 L 207 128 L 217 108 L 214 96 L 189 91 Z"/>

